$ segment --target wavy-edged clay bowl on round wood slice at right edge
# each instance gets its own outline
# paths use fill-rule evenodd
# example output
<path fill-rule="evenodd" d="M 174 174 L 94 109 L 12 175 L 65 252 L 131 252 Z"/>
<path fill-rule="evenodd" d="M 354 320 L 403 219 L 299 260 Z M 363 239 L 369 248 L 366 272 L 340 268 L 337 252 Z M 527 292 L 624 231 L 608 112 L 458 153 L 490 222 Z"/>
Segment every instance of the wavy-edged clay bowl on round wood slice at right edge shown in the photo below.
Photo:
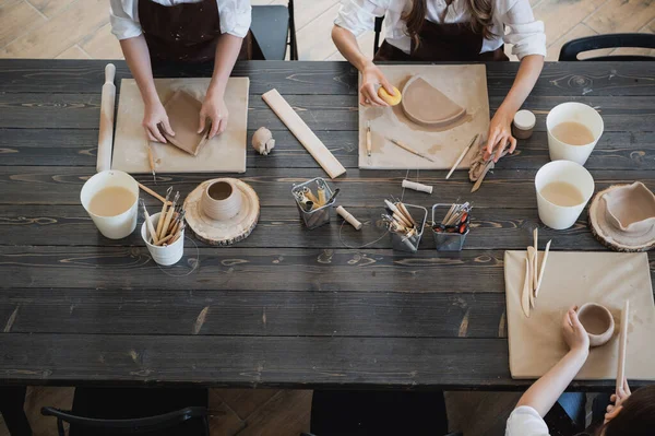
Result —
<path fill-rule="evenodd" d="M 641 181 L 600 191 L 590 205 L 590 226 L 612 250 L 650 250 L 655 246 L 655 196 Z"/>

